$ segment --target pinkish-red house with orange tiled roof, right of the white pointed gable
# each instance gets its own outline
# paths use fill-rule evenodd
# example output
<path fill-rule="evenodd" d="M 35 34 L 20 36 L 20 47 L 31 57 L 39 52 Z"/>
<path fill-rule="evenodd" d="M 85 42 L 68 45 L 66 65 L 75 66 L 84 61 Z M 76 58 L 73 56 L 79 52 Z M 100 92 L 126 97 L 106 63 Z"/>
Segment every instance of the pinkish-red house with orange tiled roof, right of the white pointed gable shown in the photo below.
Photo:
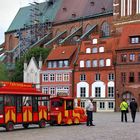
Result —
<path fill-rule="evenodd" d="M 58 47 L 51 51 L 40 72 L 40 85 L 44 93 L 52 96 L 73 95 L 74 61 L 77 48 Z"/>

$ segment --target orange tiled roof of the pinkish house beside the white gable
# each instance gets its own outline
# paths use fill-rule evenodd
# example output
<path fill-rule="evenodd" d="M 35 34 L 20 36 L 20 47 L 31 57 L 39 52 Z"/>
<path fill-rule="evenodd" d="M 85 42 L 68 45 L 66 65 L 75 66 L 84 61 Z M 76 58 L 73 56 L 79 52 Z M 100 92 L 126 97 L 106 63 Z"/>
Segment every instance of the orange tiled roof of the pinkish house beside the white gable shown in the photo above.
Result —
<path fill-rule="evenodd" d="M 68 60 L 73 55 L 73 53 L 76 51 L 75 46 L 62 46 L 57 47 L 56 49 L 53 49 L 51 53 L 49 54 L 47 61 L 50 60 Z"/>

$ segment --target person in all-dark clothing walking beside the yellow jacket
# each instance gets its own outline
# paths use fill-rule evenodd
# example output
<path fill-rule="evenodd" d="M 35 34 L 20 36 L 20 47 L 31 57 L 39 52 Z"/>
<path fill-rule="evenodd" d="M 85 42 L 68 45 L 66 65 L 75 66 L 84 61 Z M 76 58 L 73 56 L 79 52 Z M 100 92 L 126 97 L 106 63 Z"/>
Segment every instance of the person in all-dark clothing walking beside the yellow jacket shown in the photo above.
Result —
<path fill-rule="evenodd" d="M 130 110 L 131 110 L 131 117 L 133 122 L 135 122 L 137 107 L 138 104 L 135 101 L 135 98 L 132 98 L 132 101 L 130 102 Z"/>

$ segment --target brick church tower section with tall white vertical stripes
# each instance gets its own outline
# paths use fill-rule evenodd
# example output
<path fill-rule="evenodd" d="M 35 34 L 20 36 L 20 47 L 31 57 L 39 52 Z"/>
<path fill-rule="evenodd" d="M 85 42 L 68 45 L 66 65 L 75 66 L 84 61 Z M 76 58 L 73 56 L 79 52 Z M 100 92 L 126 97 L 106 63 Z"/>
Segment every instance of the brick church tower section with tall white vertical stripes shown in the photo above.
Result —
<path fill-rule="evenodd" d="M 119 31 L 123 25 L 140 23 L 140 0 L 113 0 L 113 19 Z"/>

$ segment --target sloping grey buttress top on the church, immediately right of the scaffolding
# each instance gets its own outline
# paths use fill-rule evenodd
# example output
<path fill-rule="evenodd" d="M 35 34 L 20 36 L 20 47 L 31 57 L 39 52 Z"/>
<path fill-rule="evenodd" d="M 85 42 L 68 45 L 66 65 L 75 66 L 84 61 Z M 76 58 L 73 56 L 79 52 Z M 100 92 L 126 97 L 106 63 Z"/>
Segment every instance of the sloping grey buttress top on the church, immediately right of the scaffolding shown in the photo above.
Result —
<path fill-rule="evenodd" d="M 38 40 L 37 42 L 35 42 L 33 45 L 29 46 L 29 48 L 40 46 L 40 45 L 44 44 L 45 42 L 50 41 L 51 40 L 51 37 L 52 37 L 52 33 L 48 33 L 47 35 L 45 35 L 44 37 L 42 37 L 40 40 Z"/>

